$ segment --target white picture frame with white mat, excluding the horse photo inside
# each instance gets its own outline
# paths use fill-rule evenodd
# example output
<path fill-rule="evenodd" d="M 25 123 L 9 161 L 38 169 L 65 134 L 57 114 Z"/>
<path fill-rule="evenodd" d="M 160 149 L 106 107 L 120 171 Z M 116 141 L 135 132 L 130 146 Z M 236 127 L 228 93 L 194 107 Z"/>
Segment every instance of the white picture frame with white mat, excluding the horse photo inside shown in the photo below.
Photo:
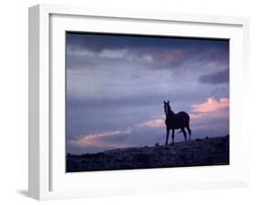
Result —
<path fill-rule="evenodd" d="M 170 25 L 174 28 L 171 34 L 165 29 Z M 65 72 L 53 69 L 65 68 L 66 30 L 229 38 L 230 165 L 67 174 L 63 154 Z M 244 159 L 249 156 L 249 139 L 242 127 L 242 109 L 246 104 L 247 93 L 243 91 L 249 76 L 248 30 L 249 20 L 241 17 L 145 13 L 64 5 L 30 7 L 29 196 L 50 200 L 247 186 L 249 164 Z"/>

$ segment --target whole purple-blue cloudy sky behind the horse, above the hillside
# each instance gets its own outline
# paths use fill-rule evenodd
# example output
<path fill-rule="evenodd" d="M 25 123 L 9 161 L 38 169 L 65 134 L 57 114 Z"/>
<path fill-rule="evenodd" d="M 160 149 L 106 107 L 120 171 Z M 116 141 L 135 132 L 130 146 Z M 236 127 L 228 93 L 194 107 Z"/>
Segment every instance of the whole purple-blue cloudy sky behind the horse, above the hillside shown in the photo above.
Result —
<path fill-rule="evenodd" d="M 192 139 L 229 134 L 229 56 L 229 40 L 67 33 L 67 152 L 163 144 L 168 100 Z"/>

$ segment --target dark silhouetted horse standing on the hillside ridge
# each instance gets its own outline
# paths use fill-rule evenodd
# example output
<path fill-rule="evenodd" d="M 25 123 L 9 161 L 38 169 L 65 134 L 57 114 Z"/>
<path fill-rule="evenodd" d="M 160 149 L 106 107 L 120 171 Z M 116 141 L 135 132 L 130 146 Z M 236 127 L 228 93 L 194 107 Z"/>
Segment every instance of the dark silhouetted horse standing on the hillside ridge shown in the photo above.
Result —
<path fill-rule="evenodd" d="M 172 144 L 174 144 L 174 133 L 175 130 L 181 129 L 180 132 L 183 133 L 185 142 L 187 142 L 187 132 L 185 131 L 185 128 L 189 132 L 189 141 L 191 140 L 191 130 L 189 128 L 189 114 L 187 112 L 178 112 L 174 113 L 169 106 L 169 101 L 165 102 L 164 101 L 164 112 L 166 114 L 166 142 L 165 144 L 168 144 L 168 139 L 169 139 L 169 131 L 172 131 L 171 139 L 172 139 Z"/>

